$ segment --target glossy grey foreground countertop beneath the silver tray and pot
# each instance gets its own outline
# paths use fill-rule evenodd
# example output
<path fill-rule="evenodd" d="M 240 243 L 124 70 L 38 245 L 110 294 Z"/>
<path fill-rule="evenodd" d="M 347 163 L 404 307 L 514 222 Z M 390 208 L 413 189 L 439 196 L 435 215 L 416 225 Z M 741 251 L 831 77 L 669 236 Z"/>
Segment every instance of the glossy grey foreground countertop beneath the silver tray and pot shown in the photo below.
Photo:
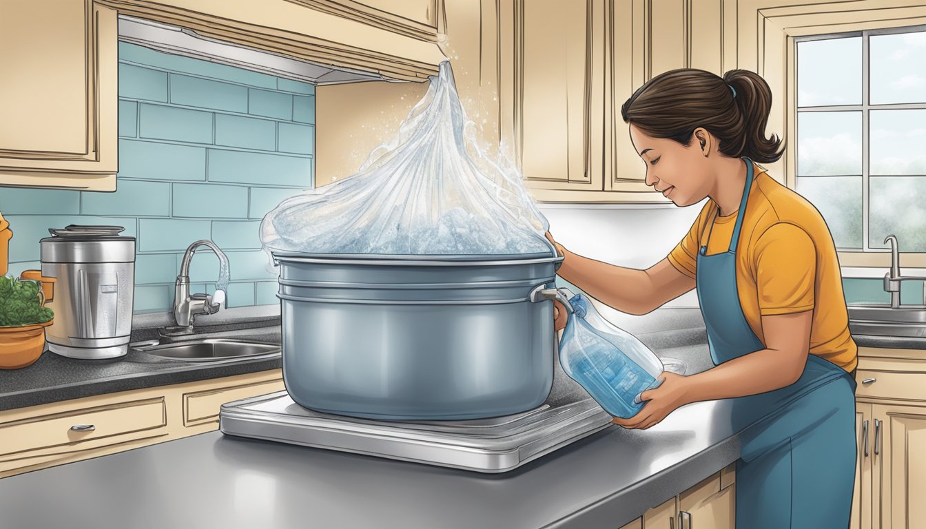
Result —
<path fill-rule="evenodd" d="M 698 321 L 696 309 L 660 309 L 621 324 L 692 373 L 711 365 Z M 0 479 L 0 511 L 12 527 L 74 529 L 613 529 L 737 460 L 742 436 L 767 420 L 776 402 L 754 396 L 690 404 L 649 430 L 612 425 L 500 474 L 213 432 Z M 48 498 L 54 509 L 44 507 Z"/>

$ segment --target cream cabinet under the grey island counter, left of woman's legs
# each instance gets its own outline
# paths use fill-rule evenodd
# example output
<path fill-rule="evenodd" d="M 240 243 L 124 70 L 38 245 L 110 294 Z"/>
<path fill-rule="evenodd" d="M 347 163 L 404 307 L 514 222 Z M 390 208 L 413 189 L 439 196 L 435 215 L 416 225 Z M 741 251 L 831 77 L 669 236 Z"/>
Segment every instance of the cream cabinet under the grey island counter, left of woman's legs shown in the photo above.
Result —
<path fill-rule="evenodd" d="M 641 529 L 731 529 L 736 525 L 736 463 L 669 498 L 624 527 Z M 624 529 L 622 527 L 621 529 Z"/>

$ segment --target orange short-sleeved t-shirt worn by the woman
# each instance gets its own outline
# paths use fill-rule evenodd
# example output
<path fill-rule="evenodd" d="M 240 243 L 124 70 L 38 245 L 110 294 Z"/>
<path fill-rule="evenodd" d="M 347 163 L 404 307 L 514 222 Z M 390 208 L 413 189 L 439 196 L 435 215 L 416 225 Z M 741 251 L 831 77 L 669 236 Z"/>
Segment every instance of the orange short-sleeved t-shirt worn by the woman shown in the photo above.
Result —
<path fill-rule="evenodd" d="M 857 346 L 849 334 L 843 279 L 830 229 L 803 196 L 759 166 L 755 175 L 736 249 L 736 292 L 745 319 L 764 344 L 762 316 L 813 309 L 810 354 L 851 372 L 858 363 Z M 672 266 L 689 277 L 694 278 L 695 256 L 709 231 L 709 226 L 704 227 L 716 208 L 708 200 L 691 230 L 669 253 Z M 707 255 L 728 250 L 738 214 L 717 216 Z"/>

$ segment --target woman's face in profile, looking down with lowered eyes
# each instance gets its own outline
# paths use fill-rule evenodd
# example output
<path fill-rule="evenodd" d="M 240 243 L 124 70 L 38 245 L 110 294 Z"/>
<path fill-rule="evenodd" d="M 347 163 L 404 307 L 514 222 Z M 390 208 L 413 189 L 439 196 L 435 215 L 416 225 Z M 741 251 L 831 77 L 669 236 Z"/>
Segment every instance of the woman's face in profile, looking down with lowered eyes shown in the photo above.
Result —
<path fill-rule="evenodd" d="M 646 164 L 646 185 L 652 185 L 680 207 L 697 204 L 707 196 L 712 171 L 697 138 L 685 146 L 675 140 L 648 136 L 633 124 L 630 128 L 633 148 Z M 698 131 L 707 134 L 704 129 Z M 715 145 L 714 138 L 707 138 L 707 142 L 708 149 Z"/>

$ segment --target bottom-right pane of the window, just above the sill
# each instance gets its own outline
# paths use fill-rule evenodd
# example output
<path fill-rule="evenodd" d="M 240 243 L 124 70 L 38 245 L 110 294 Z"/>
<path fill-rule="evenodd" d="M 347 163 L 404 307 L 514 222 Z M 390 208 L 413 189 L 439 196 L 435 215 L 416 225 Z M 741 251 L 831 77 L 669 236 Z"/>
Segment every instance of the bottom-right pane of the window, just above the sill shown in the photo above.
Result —
<path fill-rule="evenodd" d="M 900 251 L 926 252 L 926 176 L 872 176 L 869 192 L 869 246 L 894 234 Z"/>

